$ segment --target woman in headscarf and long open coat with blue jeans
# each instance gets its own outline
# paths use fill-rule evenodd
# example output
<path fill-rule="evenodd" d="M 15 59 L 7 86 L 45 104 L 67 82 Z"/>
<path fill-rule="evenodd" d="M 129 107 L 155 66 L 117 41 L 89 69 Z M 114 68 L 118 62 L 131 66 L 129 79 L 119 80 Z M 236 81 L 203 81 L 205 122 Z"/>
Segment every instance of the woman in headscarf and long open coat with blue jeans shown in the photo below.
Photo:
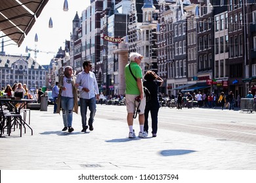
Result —
<path fill-rule="evenodd" d="M 73 69 L 71 66 L 66 66 L 64 69 L 64 75 L 60 76 L 58 80 L 58 87 L 60 88 L 57 99 L 57 113 L 60 113 L 62 109 L 62 119 L 64 128 L 62 131 L 68 132 L 74 131 L 72 127 L 73 122 L 73 110 L 78 113 L 77 102 L 77 89 L 75 88 L 75 76 L 73 75 Z"/>

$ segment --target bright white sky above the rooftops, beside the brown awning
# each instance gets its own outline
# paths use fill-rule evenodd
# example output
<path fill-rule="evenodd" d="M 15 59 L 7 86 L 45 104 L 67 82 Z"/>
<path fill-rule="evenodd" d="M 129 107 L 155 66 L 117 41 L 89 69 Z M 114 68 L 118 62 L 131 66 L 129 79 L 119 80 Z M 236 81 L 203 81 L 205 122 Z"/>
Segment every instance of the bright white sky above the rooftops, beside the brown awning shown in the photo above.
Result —
<path fill-rule="evenodd" d="M 64 50 L 64 42 L 66 40 L 70 41 L 72 20 L 75 18 L 75 13 L 77 12 L 78 16 L 81 17 L 82 11 L 90 4 L 90 0 L 68 0 L 69 9 L 64 12 L 64 0 L 49 0 L 20 47 L 17 45 L 7 45 L 4 48 L 5 54 L 28 55 L 26 53 L 26 46 L 28 46 L 32 50 L 39 51 L 37 52 L 36 59 L 39 64 L 49 64 L 60 46 Z M 53 20 L 53 28 L 48 27 L 50 17 Z M 35 34 L 37 34 L 38 42 L 35 42 Z M 4 37 L 4 41 L 8 40 L 9 37 Z M 5 42 L 5 45 L 10 43 L 14 42 L 8 41 Z M 46 52 L 54 52 L 55 54 L 47 54 Z M 35 52 L 30 51 L 30 56 L 35 58 Z"/>

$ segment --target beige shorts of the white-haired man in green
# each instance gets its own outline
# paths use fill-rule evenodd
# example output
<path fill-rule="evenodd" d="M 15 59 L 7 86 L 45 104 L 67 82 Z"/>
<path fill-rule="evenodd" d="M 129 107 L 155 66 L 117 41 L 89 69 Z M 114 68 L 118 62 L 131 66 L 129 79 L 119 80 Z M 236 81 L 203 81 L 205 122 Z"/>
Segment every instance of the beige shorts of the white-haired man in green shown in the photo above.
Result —
<path fill-rule="evenodd" d="M 128 113 L 133 113 L 136 112 L 136 107 L 139 106 L 139 103 L 137 101 L 135 101 L 135 98 L 138 97 L 138 95 L 129 95 L 129 94 L 125 94 L 125 102 L 126 102 L 126 110 Z M 138 112 L 138 114 L 144 114 L 144 110 L 146 107 L 146 98 L 143 97 L 142 100 L 140 100 L 140 106 L 139 106 L 139 110 L 140 112 Z"/>

